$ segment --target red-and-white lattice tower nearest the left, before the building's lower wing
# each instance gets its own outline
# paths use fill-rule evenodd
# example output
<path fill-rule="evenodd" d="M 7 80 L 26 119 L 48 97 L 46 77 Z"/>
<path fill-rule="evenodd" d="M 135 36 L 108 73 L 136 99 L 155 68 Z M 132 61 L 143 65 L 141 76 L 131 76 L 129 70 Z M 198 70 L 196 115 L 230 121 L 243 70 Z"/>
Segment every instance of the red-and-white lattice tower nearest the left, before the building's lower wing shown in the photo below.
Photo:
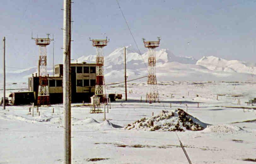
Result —
<path fill-rule="evenodd" d="M 50 34 L 47 34 L 47 38 L 33 38 L 36 41 L 36 45 L 39 46 L 39 87 L 38 87 L 38 99 L 37 104 L 40 105 L 50 105 L 49 87 L 47 79 L 47 51 L 46 46 L 50 44 L 53 39 L 49 38 Z"/>

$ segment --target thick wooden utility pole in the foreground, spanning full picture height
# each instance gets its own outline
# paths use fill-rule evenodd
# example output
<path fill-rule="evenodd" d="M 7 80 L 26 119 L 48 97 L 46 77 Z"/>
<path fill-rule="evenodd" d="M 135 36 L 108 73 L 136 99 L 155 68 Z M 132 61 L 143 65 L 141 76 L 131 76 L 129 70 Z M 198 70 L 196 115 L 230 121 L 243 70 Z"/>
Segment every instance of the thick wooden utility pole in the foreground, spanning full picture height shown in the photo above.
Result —
<path fill-rule="evenodd" d="M 71 164 L 71 0 L 63 0 L 63 6 L 63 164 Z"/>

